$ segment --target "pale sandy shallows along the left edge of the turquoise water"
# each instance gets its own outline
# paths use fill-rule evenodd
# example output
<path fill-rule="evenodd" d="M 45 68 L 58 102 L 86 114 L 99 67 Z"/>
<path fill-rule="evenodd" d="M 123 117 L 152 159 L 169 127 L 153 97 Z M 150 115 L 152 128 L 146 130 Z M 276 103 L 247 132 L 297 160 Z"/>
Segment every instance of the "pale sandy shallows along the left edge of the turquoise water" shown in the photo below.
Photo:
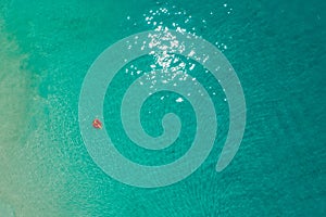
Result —
<path fill-rule="evenodd" d="M 43 152 L 38 149 L 45 143 L 45 136 L 39 136 L 45 130 L 40 123 L 35 123 L 35 129 L 28 127 L 32 116 L 43 117 L 37 106 L 30 106 L 40 98 L 23 66 L 28 56 L 20 54 L 3 26 L 0 17 L 0 216 L 60 216 L 55 204 L 60 189 L 53 191 L 53 175 L 47 175 L 53 171 L 45 169 L 48 165 L 40 161 Z"/>

